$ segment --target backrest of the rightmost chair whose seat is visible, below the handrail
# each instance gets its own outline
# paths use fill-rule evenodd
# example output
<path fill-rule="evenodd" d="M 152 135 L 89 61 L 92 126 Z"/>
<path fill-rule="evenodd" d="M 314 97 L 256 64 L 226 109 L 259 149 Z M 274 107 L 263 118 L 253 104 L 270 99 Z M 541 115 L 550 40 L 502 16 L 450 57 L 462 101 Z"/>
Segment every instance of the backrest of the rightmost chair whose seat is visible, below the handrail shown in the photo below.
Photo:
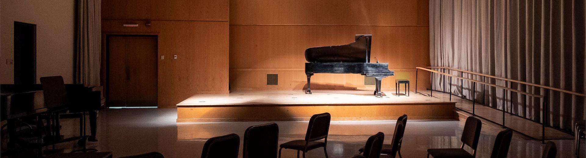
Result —
<path fill-rule="evenodd" d="M 475 117 L 466 118 L 466 124 L 464 124 L 464 131 L 462 131 L 462 143 L 470 146 L 473 150 L 476 150 L 478 146 L 478 139 L 480 138 L 480 131 L 482 129 L 482 122 Z"/>

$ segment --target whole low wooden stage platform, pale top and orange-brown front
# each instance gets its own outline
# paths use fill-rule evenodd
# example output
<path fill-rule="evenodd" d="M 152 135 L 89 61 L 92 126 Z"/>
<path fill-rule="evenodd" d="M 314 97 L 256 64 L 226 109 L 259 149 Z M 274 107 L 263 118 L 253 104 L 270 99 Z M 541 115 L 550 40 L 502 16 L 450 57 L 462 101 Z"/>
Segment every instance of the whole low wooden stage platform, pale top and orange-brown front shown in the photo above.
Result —
<path fill-rule="evenodd" d="M 196 94 L 177 104 L 177 122 L 306 121 L 328 112 L 332 120 L 410 120 L 457 118 L 455 102 L 415 94 L 382 98 L 373 90 L 239 90 Z"/>

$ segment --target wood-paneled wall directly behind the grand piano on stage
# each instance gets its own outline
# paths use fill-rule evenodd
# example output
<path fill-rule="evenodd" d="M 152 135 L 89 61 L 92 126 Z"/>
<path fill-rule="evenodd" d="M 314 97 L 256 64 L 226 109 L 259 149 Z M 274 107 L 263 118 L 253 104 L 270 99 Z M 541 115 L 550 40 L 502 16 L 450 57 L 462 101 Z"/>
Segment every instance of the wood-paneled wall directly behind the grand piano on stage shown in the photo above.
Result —
<path fill-rule="evenodd" d="M 373 34 L 371 61 L 389 63 L 396 76 L 383 79 L 383 90 L 394 89 L 395 79 L 414 81 L 415 66 L 430 65 L 428 12 L 427 0 L 230 0 L 230 87 L 304 89 L 306 48 Z M 265 85 L 266 73 L 278 73 L 279 85 Z M 428 76 L 421 72 L 420 83 Z M 374 86 L 361 75 L 316 74 L 312 89 Z"/>

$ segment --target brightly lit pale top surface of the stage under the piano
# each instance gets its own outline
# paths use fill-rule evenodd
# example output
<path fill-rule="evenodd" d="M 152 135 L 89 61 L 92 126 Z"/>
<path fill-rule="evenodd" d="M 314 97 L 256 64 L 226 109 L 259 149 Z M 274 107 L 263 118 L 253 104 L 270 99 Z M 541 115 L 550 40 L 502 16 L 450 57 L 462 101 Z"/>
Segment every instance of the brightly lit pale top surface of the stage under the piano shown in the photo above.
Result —
<path fill-rule="evenodd" d="M 455 103 L 429 97 L 427 94 L 397 96 L 395 93 L 381 98 L 373 90 L 238 90 L 230 94 L 196 94 L 177 104 L 177 107 L 239 107 L 239 106 L 332 106 L 332 105 L 411 105 Z"/>

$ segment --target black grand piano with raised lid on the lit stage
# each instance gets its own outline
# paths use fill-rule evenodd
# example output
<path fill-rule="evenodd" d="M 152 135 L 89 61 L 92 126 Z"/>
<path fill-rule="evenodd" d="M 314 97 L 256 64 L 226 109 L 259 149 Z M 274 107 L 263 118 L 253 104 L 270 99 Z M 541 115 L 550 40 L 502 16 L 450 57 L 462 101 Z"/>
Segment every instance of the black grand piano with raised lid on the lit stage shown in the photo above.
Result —
<path fill-rule="evenodd" d="M 305 74 L 307 90 L 314 73 L 359 73 L 376 79 L 374 96 L 382 97 L 380 84 L 383 78 L 393 76 L 389 63 L 370 63 L 370 41 L 372 34 L 357 34 L 353 43 L 326 47 L 311 47 L 305 50 Z"/>

